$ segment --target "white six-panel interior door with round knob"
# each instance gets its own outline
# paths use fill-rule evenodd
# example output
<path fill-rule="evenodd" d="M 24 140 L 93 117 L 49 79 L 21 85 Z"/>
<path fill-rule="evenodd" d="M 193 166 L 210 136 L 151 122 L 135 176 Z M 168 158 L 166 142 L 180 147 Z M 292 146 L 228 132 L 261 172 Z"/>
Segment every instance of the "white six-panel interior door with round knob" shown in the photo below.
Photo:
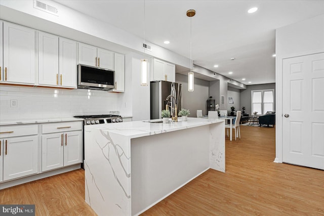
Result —
<path fill-rule="evenodd" d="M 324 169 L 324 53 L 283 61 L 283 162 Z"/>

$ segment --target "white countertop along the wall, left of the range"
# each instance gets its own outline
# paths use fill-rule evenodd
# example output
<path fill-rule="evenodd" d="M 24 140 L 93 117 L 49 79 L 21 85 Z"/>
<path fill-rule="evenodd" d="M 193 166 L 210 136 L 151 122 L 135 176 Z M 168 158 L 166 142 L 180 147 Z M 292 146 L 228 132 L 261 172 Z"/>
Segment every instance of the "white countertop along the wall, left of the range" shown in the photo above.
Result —
<path fill-rule="evenodd" d="M 1 121 L 0 126 L 15 125 L 15 124 L 35 124 L 35 123 L 49 123 L 49 122 L 62 122 L 62 121 L 83 121 L 82 118 L 63 117 L 63 118 L 44 118 L 44 119 L 20 119 L 17 121 Z"/>

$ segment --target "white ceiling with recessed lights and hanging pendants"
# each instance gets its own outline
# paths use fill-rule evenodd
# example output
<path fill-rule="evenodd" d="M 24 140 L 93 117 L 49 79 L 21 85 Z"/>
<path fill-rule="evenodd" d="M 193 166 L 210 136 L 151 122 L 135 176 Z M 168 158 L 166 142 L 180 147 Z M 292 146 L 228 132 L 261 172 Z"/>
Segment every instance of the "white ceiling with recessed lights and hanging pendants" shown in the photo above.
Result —
<path fill-rule="evenodd" d="M 190 18 L 186 11 L 194 9 L 196 15 L 191 18 L 194 64 L 247 85 L 275 82 L 272 55 L 276 28 L 324 14 L 324 0 L 56 2 L 139 37 L 144 37 L 145 32 L 147 44 L 187 58 L 190 58 Z M 249 14 L 247 11 L 253 7 L 258 11 Z M 165 40 L 170 44 L 164 44 Z"/>

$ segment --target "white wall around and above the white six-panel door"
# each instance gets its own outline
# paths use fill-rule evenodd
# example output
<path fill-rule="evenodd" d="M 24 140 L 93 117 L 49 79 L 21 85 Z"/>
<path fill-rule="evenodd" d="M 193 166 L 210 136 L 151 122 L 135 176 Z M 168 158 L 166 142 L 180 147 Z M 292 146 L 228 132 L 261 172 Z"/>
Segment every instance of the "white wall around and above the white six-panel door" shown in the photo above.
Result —
<path fill-rule="evenodd" d="M 282 162 L 282 60 L 324 52 L 324 15 L 276 29 L 276 158 Z"/>

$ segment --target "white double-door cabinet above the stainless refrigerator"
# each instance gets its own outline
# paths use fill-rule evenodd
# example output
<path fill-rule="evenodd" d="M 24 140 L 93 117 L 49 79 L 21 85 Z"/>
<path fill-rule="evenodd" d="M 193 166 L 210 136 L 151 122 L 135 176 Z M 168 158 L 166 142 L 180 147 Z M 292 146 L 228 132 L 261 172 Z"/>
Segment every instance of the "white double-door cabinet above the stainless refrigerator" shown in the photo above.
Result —
<path fill-rule="evenodd" d="M 151 81 L 166 80 L 175 82 L 176 80 L 176 66 L 169 62 L 159 59 L 151 60 Z"/>

